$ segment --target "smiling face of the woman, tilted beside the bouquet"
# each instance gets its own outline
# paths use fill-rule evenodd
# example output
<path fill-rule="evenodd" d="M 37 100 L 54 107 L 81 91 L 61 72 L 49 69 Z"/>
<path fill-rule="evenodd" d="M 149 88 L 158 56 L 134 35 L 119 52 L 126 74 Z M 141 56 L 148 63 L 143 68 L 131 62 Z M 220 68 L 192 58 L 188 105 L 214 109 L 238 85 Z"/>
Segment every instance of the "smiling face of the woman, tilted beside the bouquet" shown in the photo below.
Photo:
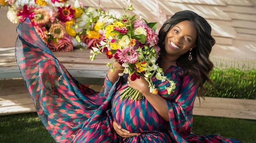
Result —
<path fill-rule="evenodd" d="M 185 54 L 190 48 L 195 48 L 197 41 L 197 30 L 190 21 L 182 21 L 168 31 L 164 46 L 166 56 L 178 58 Z"/>

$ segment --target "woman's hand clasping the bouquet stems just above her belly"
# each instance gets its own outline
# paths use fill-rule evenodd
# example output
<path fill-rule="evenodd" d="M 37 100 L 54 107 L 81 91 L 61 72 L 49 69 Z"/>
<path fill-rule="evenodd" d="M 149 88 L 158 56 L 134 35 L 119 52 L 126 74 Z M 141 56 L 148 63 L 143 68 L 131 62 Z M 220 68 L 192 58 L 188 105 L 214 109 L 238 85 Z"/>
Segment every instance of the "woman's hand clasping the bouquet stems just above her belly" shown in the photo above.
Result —
<path fill-rule="evenodd" d="M 133 89 L 138 90 L 141 93 L 149 91 L 149 83 L 145 80 L 144 77 L 140 76 L 140 78 L 132 81 L 130 76 L 128 77 L 128 86 L 132 87 Z"/>

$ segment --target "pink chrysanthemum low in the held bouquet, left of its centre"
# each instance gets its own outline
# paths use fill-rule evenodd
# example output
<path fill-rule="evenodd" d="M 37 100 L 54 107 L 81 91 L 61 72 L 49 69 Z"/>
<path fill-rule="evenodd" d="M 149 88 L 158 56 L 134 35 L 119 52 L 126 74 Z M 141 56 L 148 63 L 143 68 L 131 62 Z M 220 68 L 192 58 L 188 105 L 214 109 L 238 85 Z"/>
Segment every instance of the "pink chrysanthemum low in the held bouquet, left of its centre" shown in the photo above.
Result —
<path fill-rule="evenodd" d="M 138 53 L 132 48 L 125 48 L 122 50 L 117 50 L 116 52 L 119 60 L 123 63 L 136 63 L 138 61 Z"/>

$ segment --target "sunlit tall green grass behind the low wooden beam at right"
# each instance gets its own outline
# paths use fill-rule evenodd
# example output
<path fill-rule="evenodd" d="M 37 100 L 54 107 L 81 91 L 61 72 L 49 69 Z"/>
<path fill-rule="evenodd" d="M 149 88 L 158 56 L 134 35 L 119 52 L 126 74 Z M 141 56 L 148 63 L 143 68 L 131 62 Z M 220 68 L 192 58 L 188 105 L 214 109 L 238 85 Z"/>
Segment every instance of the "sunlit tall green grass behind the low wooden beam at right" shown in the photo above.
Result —
<path fill-rule="evenodd" d="M 256 99 L 256 69 L 245 64 L 242 67 L 220 67 L 214 68 L 211 80 L 214 85 L 205 83 L 210 97 Z"/>

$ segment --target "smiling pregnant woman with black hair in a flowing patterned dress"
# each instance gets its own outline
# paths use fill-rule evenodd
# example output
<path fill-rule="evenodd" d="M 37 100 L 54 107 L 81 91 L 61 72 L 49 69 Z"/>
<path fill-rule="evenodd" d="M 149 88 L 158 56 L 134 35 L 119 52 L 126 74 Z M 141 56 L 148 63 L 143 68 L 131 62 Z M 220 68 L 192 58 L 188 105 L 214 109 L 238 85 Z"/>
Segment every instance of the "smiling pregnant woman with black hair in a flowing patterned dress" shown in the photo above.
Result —
<path fill-rule="evenodd" d="M 127 17 L 120 17 L 120 23 L 112 27 L 123 30 L 122 26 L 129 20 Z M 143 20 L 136 22 L 136 26 L 147 29 L 146 34 L 153 32 Z M 129 32 L 134 29 L 127 30 Z M 158 42 L 161 48 L 156 63 L 163 69 L 164 79 L 168 79 L 158 80 L 159 74 L 155 73 L 160 68 L 153 70 L 150 80 L 157 93 L 150 91 L 149 82 L 142 76 L 136 75 L 135 80 L 128 74 L 119 76 L 126 69 L 121 66 L 121 60 L 113 64 L 113 69 L 106 75 L 102 91 L 97 93 L 81 85 L 67 72 L 36 35 L 29 20 L 22 22 L 17 31 L 16 59 L 20 72 L 41 121 L 56 142 L 240 142 L 236 139 L 223 139 L 218 134 L 198 136 L 191 133 L 196 95 L 204 95 L 204 82 L 211 83 L 209 73 L 213 64 L 209 60 L 209 54 L 215 44 L 211 26 L 192 11 L 175 13 L 163 24 L 157 38 L 150 39 L 146 35 L 147 43 Z M 107 32 L 112 37 L 124 34 L 113 31 Z M 130 39 L 131 35 L 125 40 Z M 127 46 L 126 50 L 138 52 L 137 49 L 148 48 L 141 42 L 130 42 L 132 45 Z M 153 50 L 150 52 L 155 54 Z M 166 88 L 171 86 L 169 81 L 175 83 L 172 92 L 168 92 Z M 121 93 L 126 89 L 135 89 L 144 98 L 120 100 Z"/>

